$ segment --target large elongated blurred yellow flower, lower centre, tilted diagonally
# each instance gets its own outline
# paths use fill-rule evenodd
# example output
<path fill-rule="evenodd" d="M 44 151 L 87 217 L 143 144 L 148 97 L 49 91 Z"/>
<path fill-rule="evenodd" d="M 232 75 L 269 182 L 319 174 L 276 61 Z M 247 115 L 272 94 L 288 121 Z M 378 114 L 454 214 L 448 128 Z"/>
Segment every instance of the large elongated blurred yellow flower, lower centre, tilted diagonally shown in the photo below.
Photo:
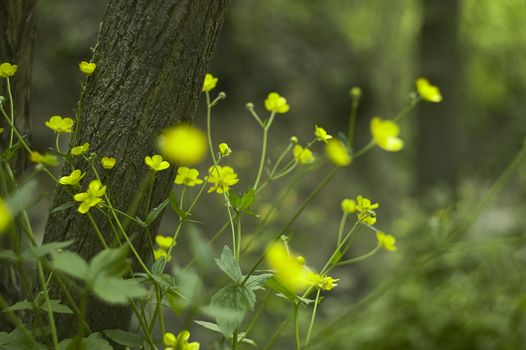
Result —
<path fill-rule="evenodd" d="M 290 291 L 300 292 L 310 285 L 309 271 L 282 242 L 272 244 L 265 258 L 275 277 Z"/>

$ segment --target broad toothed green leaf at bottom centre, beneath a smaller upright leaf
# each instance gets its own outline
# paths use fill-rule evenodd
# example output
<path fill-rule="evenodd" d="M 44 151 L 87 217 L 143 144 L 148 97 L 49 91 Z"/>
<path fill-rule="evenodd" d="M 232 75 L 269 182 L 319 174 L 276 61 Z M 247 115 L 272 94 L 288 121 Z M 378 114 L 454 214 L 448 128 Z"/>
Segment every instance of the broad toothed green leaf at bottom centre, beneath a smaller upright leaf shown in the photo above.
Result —
<path fill-rule="evenodd" d="M 229 284 L 214 294 L 210 310 L 225 337 L 231 337 L 239 328 L 246 312 L 253 310 L 255 302 L 256 295 L 252 290 L 234 284 Z"/>

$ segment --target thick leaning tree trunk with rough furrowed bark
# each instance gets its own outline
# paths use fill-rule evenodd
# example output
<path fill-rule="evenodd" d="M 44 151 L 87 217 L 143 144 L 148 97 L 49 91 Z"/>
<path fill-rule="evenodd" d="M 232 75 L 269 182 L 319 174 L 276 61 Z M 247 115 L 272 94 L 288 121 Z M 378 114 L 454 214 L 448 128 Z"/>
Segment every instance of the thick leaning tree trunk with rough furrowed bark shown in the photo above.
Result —
<path fill-rule="evenodd" d="M 108 189 L 112 204 L 123 211 L 134 198 L 148 170 L 144 157 L 154 152 L 155 138 L 166 126 L 192 118 L 203 77 L 229 0 L 111 0 L 104 17 L 82 102 L 76 146 L 89 142 L 99 157 L 113 156 Z M 87 170 L 78 157 L 77 169 Z M 98 169 L 103 173 L 102 169 Z M 64 174 L 71 171 L 64 167 Z M 166 198 L 173 167 L 157 174 L 151 206 Z M 83 180 L 84 186 L 91 179 Z M 53 207 L 71 201 L 57 188 Z M 146 202 L 146 201 L 144 201 Z M 139 216 L 145 216 L 145 208 Z M 106 220 L 91 211 L 108 242 L 113 233 Z M 153 231 L 153 230 L 152 230 Z M 144 229 L 130 226 L 134 246 L 151 259 Z M 91 258 L 102 248 L 85 215 L 76 207 L 50 214 L 44 241 L 73 239 L 71 249 Z M 87 321 L 92 331 L 126 329 L 129 307 L 91 300 Z M 61 336 L 74 332 L 71 318 L 58 318 Z"/>

